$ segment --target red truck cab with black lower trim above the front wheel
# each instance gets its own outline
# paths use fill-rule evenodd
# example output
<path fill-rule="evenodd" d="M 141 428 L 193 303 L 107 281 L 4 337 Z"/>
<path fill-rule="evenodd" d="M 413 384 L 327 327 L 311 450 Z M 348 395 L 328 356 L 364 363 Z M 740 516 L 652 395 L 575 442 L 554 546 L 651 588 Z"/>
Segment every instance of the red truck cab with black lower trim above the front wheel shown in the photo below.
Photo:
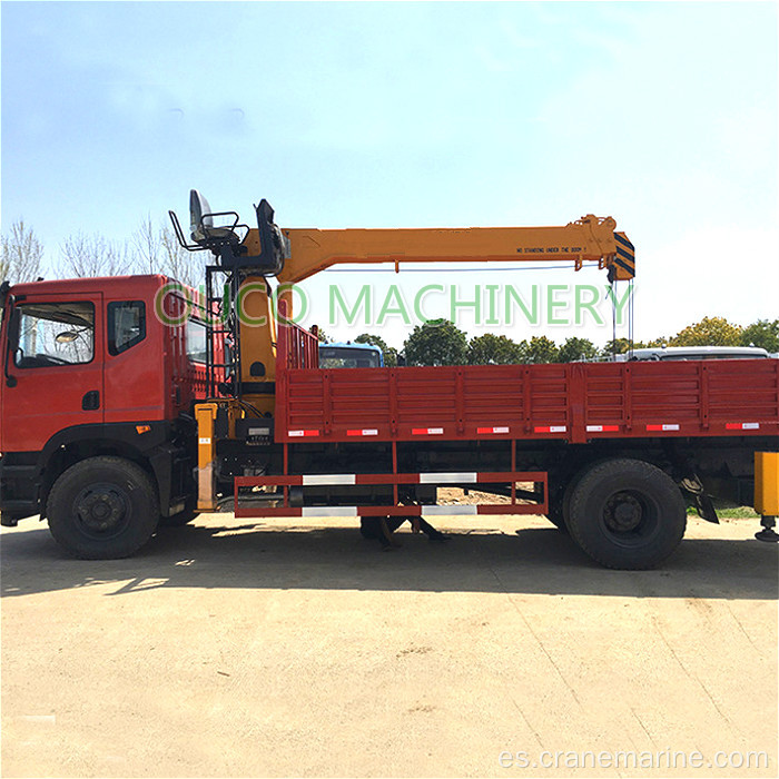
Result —
<path fill-rule="evenodd" d="M 111 483 L 127 481 L 122 470 L 142 482 L 155 522 L 185 510 L 191 410 L 206 392 L 195 299 L 159 275 L 3 285 L 2 524 L 45 517 L 55 484 L 85 462 L 108 463 L 103 485 L 75 497 L 95 536 L 117 531 L 131 509 Z"/>

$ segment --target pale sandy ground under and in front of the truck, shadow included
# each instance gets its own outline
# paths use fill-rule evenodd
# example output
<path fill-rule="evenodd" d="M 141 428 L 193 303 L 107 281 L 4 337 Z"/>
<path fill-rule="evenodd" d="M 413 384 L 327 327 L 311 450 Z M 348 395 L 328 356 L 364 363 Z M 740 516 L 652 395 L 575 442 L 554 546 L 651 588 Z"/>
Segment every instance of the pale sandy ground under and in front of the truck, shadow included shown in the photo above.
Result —
<path fill-rule="evenodd" d="M 757 522 L 690 520 L 647 572 L 541 517 L 436 524 L 387 554 L 208 515 L 106 562 L 2 529 L 2 775 L 777 776 Z"/>

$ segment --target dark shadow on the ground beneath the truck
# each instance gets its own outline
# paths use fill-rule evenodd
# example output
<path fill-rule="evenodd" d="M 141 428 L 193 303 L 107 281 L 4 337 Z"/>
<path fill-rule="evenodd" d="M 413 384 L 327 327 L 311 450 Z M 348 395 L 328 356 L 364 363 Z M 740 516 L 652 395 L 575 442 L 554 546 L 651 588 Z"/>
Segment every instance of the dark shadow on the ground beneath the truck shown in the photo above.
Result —
<path fill-rule="evenodd" d="M 32 520 L 28 520 L 32 522 Z M 773 599 L 773 544 L 687 539 L 658 571 L 608 571 L 554 527 L 455 533 L 451 543 L 401 534 L 382 553 L 356 527 L 285 527 L 249 522 L 164 529 L 129 560 L 67 558 L 41 524 L 4 533 L 3 596 L 116 582 L 107 596 L 155 588 L 256 588 L 510 592 L 552 595 Z"/>

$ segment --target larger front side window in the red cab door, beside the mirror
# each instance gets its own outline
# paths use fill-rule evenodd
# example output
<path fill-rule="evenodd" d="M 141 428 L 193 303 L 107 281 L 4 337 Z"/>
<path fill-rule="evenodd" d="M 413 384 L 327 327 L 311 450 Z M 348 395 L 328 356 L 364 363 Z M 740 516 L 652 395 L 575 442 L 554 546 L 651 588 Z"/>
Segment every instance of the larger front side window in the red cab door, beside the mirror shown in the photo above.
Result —
<path fill-rule="evenodd" d="M 80 365 L 95 357 L 91 303 L 23 303 L 14 310 L 18 368 Z"/>

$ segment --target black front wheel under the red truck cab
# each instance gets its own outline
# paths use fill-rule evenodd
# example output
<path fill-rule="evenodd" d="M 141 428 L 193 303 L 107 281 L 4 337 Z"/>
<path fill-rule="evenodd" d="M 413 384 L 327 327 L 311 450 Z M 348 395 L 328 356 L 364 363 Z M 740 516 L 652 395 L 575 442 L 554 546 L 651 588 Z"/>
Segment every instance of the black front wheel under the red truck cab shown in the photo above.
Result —
<path fill-rule="evenodd" d="M 55 482 L 47 516 L 51 535 L 73 556 L 128 558 L 157 529 L 157 491 L 146 472 L 129 460 L 89 457 Z"/>

